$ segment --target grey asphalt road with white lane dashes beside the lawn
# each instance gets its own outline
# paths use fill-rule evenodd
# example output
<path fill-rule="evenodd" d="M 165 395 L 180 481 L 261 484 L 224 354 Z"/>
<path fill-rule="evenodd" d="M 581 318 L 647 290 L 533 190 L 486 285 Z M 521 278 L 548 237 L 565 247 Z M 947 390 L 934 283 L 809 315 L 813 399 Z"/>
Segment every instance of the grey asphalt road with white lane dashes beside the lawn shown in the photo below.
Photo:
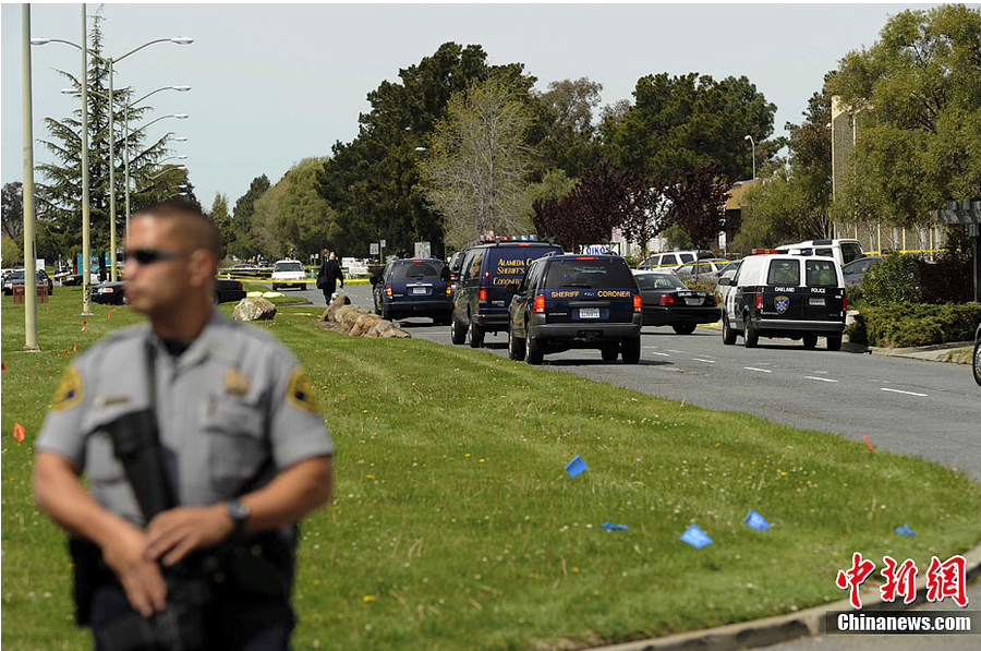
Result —
<path fill-rule="evenodd" d="M 291 292 L 292 293 L 292 292 Z M 324 305 L 319 291 L 298 292 Z M 346 293 L 372 308 L 371 287 Z M 428 318 L 400 322 L 413 337 L 451 346 L 449 328 Z M 823 343 L 823 340 L 821 340 Z M 652 396 L 686 400 L 708 409 L 748 411 L 798 427 L 822 430 L 894 451 L 922 455 L 961 468 L 981 481 L 981 389 L 966 364 L 944 364 L 827 350 L 761 339 L 747 349 L 741 339 L 723 346 L 715 328 L 690 336 L 669 328 L 644 328 L 641 363 L 604 362 L 598 351 L 546 357 L 543 369 L 576 373 Z M 488 335 L 485 350 L 507 354 L 507 336 Z M 969 590 L 970 607 L 981 604 L 981 584 Z M 949 601 L 917 611 L 954 610 Z M 981 615 L 976 625 L 981 625 Z M 981 649 L 981 636 L 834 636 L 796 640 L 778 651 L 905 651 Z"/>

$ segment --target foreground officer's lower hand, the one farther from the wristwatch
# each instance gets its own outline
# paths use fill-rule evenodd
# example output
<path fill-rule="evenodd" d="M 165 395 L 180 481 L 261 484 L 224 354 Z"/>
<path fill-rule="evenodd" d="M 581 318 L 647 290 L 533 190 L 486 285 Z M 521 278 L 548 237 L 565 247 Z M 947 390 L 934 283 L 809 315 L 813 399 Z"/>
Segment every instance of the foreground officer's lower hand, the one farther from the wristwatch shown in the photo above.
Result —
<path fill-rule="evenodd" d="M 149 617 L 155 611 L 164 610 L 167 583 L 160 566 L 144 556 L 145 547 L 146 534 L 125 523 L 112 541 L 102 547 L 102 558 L 119 577 L 130 605 L 144 617 Z"/>

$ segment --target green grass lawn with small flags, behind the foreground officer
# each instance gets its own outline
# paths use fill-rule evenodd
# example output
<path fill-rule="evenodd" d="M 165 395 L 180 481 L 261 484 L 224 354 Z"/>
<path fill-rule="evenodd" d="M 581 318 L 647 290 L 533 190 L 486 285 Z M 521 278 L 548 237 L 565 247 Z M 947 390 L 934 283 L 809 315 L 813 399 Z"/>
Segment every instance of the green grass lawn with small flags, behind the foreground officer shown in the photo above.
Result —
<path fill-rule="evenodd" d="M 41 353 L 2 299 L 2 643 L 85 649 L 64 535 L 31 501 L 60 371 L 140 316 L 81 290 L 39 305 Z M 232 304 L 221 306 L 230 313 Z M 626 641 L 846 596 L 861 552 L 946 559 L 981 538 L 981 487 L 936 463 L 417 339 L 360 339 L 280 308 L 266 327 L 319 391 L 335 499 L 303 522 L 298 649 L 538 649 Z M 253 326 L 250 326 L 253 327 Z M 63 355 L 68 348 L 69 354 Z M 12 436 L 14 422 L 27 432 Z M 581 455 L 574 479 L 565 465 Z M 743 523 L 749 509 L 768 531 Z M 601 523 L 628 525 L 605 531 Z M 697 522 L 715 543 L 678 540 Z M 916 538 L 900 537 L 908 522 Z"/>

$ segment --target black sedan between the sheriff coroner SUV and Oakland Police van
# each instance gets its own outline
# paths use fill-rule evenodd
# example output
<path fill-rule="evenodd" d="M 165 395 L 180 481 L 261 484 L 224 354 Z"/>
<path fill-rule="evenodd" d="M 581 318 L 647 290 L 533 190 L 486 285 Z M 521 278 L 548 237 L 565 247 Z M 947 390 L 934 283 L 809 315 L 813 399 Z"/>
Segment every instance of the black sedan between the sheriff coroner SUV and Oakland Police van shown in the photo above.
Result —
<path fill-rule="evenodd" d="M 674 274 L 633 272 L 643 301 L 643 325 L 671 326 L 690 335 L 702 323 L 716 323 L 722 309 L 711 291 L 695 291 Z"/>

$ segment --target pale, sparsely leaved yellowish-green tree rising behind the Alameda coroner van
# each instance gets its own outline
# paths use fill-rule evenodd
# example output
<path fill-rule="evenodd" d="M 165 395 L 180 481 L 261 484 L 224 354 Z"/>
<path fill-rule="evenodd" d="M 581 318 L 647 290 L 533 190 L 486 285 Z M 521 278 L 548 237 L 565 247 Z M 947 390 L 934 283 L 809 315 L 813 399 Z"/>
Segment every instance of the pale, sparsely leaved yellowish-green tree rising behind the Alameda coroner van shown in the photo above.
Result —
<path fill-rule="evenodd" d="M 446 242 L 457 249 L 488 230 L 524 228 L 531 116 L 514 94 L 507 80 L 474 82 L 450 97 L 446 118 L 427 141 L 419 166 L 423 193 L 443 216 Z"/>

